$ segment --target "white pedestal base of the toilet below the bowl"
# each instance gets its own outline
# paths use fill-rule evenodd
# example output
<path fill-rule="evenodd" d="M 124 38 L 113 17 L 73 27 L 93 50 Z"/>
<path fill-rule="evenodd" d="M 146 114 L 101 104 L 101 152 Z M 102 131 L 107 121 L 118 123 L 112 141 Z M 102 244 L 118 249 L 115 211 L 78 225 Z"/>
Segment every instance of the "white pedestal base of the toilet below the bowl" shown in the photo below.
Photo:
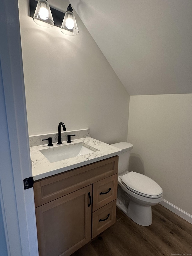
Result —
<path fill-rule="evenodd" d="M 130 219 L 141 226 L 149 226 L 152 224 L 152 208 L 151 206 L 138 205 L 129 200 L 126 207 L 119 198 L 117 198 L 117 207 L 122 210 Z"/>

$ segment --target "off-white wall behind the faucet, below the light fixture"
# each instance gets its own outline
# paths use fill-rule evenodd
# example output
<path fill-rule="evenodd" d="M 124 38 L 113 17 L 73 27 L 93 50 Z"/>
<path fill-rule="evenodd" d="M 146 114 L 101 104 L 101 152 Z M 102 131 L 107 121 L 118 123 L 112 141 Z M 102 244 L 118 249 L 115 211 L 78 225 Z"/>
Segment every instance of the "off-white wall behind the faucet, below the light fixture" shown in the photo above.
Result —
<path fill-rule="evenodd" d="M 68 3 L 57 1 L 64 12 Z M 29 135 L 56 132 L 64 122 L 68 131 L 90 128 L 106 143 L 125 141 L 129 95 L 74 14 L 79 34 L 66 36 L 35 24 L 28 1 L 19 0 Z"/>

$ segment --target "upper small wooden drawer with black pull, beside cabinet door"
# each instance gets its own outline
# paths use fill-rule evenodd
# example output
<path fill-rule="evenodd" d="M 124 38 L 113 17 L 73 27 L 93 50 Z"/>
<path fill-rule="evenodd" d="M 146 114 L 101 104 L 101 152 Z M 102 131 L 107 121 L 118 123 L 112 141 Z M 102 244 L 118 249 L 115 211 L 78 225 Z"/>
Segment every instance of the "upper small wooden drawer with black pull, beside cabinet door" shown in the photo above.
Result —
<path fill-rule="evenodd" d="M 117 197 L 118 173 L 93 184 L 93 212 Z"/>

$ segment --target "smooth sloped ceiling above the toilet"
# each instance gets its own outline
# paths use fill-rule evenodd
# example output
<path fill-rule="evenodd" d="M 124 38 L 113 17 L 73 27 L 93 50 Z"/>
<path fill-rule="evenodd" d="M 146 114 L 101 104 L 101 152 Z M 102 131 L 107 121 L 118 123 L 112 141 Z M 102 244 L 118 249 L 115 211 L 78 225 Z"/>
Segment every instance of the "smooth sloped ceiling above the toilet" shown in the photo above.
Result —
<path fill-rule="evenodd" d="M 192 93 L 191 0 L 70 0 L 130 95 Z"/>

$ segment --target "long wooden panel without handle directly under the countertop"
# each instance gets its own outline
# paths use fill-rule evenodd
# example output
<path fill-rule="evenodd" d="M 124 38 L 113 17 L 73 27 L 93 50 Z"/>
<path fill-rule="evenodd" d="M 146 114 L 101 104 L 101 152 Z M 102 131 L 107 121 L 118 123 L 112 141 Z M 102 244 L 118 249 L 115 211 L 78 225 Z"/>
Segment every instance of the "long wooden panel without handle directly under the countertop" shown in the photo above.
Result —
<path fill-rule="evenodd" d="M 34 182 L 35 207 L 41 206 L 118 172 L 118 156 Z"/>

